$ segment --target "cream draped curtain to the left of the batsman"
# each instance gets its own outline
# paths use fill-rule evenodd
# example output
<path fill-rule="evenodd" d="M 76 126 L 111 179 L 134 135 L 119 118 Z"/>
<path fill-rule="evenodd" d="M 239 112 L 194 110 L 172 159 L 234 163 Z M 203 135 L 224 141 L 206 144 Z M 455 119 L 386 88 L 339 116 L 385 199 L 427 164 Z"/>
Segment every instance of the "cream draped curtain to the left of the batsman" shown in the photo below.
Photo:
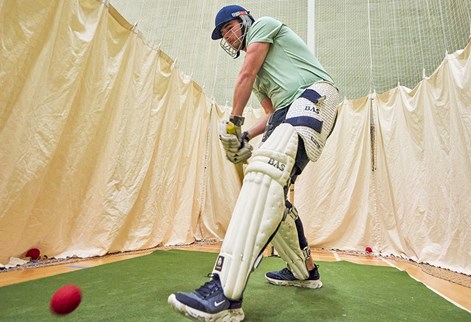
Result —
<path fill-rule="evenodd" d="M 0 14 L 0 263 L 222 238 L 223 109 L 99 1 Z"/>

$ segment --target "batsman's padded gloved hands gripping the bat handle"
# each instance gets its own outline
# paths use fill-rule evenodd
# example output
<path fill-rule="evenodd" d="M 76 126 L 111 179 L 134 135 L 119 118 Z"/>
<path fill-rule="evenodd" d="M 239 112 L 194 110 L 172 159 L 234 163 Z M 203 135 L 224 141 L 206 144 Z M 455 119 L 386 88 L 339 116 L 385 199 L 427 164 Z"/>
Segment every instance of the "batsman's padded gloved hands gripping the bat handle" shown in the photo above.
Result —
<path fill-rule="evenodd" d="M 247 161 L 253 150 L 249 144 L 248 133 L 241 133 L 240 125 L 229 121 L 223 122 L 219 127 L 219 139 L 226 151 L 226 157 L 235 164 Z"/>

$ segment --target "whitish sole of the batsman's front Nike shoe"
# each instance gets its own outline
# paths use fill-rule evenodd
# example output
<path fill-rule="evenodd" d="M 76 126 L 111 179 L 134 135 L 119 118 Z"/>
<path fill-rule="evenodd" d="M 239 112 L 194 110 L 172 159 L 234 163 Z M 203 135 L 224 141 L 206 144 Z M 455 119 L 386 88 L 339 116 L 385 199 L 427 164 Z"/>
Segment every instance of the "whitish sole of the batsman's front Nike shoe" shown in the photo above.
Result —
<path fill-rule="evenodd" d="M 175 294 L 168 297 L 168 303 L 178 313 L 184 314 L 191 319 L 204 322 L 239 322 L 244 320 L 244 311 L 240 309 L 224 310 L 216 314 L 210 314 L 194 309 L 178 301 Z"/>

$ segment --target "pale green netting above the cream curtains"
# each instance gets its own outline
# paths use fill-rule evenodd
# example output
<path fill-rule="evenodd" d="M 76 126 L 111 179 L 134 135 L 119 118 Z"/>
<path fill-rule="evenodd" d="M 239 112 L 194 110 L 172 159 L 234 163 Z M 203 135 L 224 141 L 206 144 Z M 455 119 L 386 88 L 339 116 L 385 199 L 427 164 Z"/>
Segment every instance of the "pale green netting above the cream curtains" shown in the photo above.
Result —
<path fill-rule="evenodd" d="M 309 2 L 311 6 L 309 6 Z M 143 38 L 176 60 L 207 96 L 232 103 L 243 62 L 210 38 L 214 17 L 233 1 L 111 0 Z M 349 99 L 410 88 L 439 66 L 447 52 L 464 48 L 471 31 L 469 0 L 261 0 L 238 1 L 257 19 L 272 16 L 306 42 Z M 314 10 L 314 14 L 308 12 Z M 308 17 L 314 23 L 308 24 Z M 308 30 L 308 25 L 314 30 Z M 249 105 L 258 107 L 252 96 Z"/>

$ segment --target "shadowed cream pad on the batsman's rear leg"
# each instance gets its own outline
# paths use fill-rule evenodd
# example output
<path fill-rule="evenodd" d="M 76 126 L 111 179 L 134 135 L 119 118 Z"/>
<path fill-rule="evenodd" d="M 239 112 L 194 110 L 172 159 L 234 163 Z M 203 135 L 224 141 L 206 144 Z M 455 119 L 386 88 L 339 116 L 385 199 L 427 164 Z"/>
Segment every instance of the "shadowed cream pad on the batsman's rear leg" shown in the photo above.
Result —
<path fill-rule="evenodd" d="M 309 257 L 309 248 L 303 250 L 299 245 L 298 231 L 295 220 L 297 211 L 292 208 L 286 214 L 286 218 L 280 225 L 278 232 L 271 241 L 278 255 L 286 262 L 289 270 L 298 280 L 305 280 L 309 277 L 306 267 L 306 258 Z"/>

